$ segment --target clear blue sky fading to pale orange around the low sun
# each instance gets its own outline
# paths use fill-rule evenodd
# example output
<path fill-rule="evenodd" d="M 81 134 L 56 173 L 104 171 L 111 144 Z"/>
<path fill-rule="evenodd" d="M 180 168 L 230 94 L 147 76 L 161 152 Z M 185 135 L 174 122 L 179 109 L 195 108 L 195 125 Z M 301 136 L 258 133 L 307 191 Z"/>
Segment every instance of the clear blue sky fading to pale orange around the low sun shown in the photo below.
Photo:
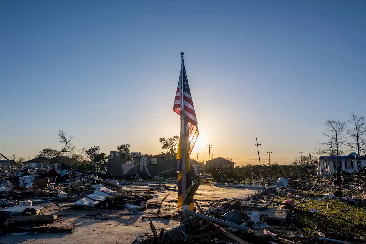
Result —
<path fill-rule="evenodd" d="M 214 155 L 255 162 L 258 137 L 265 162 L 268 151 L 291 162 L 324 139 L 326 119 L 366 115 L 365 12 L 365 1 L 0 1 L 0 152 L 59 149 L 60 129 L 77 148 L 162 152 L 158 138 L 179 134 L 183 51 L 199 157 L 209 138 Z"/>

